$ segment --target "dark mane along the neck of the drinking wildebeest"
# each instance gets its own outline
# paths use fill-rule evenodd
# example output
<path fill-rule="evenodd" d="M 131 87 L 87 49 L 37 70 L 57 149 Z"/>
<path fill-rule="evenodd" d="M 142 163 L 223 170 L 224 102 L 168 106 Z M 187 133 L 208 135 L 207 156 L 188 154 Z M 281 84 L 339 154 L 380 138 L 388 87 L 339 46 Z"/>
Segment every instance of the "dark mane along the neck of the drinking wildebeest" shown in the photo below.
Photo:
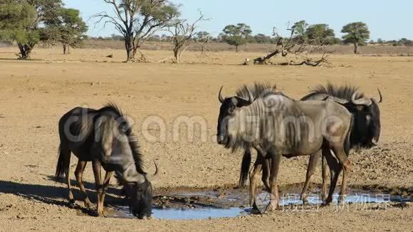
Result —
<path fill-rule="evenodd" d="M 135 137 L 135 135 L 133 135 L 132 127 L 130 126 L 130 123 L 127 121 L 127 118 L 125 117 L 125 115 L 123 115 L 122 110 L 120 110 L 120 108 L 117 107 L 115 103 L 109 102 L 99 111 L 112 112 L 115 115 L 115 120 L 118 120 L 119 117 L 122 117 L 122 120 L 118 122 L 124 122 L 122 124 L 122 128 L 123 128 L 122 132 L 125 132 L 125 135 L 127 136 L 129 147 L 132 151 L 133 159 L 135 160 L 136 170 L 140 174 L 146 174 L 143 171 L 142 153 L 140 153 L 140 149 L 139 149 L 140 147 L 139 147 L 139 144 L 137 143 L 137 138 Z"/>

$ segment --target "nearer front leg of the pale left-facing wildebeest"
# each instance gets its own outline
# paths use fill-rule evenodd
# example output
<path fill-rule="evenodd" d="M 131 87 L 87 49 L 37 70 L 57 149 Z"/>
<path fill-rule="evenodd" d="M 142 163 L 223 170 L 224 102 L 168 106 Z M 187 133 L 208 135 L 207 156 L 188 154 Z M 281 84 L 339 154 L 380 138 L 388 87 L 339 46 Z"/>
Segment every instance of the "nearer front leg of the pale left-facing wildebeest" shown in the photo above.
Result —
<path fill-rule="evenodd" d="M 270 194 L 270 204 L 268 204 L 266 211 L 273 211 L 277 209 L 278 206 L 278 184 L 277 176 L 278 169 L 281 162 L 281 152 L 271 152 L 271 194 Z"/>

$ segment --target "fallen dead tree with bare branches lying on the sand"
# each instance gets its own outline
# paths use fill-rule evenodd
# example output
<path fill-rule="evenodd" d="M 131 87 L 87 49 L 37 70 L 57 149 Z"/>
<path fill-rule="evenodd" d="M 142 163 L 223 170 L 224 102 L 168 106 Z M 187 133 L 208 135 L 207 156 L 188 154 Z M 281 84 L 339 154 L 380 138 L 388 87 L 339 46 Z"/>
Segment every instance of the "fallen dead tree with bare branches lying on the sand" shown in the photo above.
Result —
<path fill-rule="evenodd" d="M 296 31 L 296 27 L 292 26 L 290 27 L 288 25 L 287 30 L 290 31 L 289 37 L 285 38 L 282 37 L 278 34 L 277 29 L 274 27 L 273 28 L 273 36 L 275 36 L 276 39 L 276 48 L 272 53 L 269 53 L 266 56 L 263 57 L 258 57 L 253 59 L 254 64 L 268 64 L 271 63 L 270 60 L 274 56 L 281 55 L 281 57 L 286 58 L 288 55 L 293 55 L 298 58 L 302 58 L 303 61 L 296 63 L 294 60 L 290 60 L 287 63 L 282 63 L 283 65 L 310 65 L 310 66 L 318 66 L 322 63 L 328 63 L 326 55 L 328 55 L 328 52 L 325 51 L 325 44 L 324 43 L 318 43 L 315 44 L 314 41 L 308 40 L 308 38 L 305 38 L 303 34 L 300 34 Z M 298 34 L 300 39 L 297 39 Z M 295 37 L 296 36 L 296 37 Z M 321 51 L 323 53 L 323 56 L 319 60 L 313 60 L 313 58 L 310 58 L 308 56 L 308 53 L 310 51 L 314 50 Z"/>

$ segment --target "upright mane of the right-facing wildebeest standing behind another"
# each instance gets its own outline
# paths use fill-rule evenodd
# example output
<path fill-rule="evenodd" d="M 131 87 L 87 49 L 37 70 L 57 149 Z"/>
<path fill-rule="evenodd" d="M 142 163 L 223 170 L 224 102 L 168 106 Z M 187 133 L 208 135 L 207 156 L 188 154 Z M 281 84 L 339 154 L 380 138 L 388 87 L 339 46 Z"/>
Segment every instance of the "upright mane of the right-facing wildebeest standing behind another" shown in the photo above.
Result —
<path fill-rule="evenodd" d="M 301 100 L 306 100 L 308 97 L 318 94 L 327 94 L 333 97 L 338 97 L 340 99 L 351 101 L 351 96 L 356 93 L 356 99 L 360 97 L 364 97 L 363 93 L 357 93 L 358 87 L 354 85 L 342 85 L 337 86 L 333 85 L 332 83 L 328 83 L 327 85 L 318 85 L 313 90 L 310 91 L 310 94 L 306 95 L 305 97 L 301 98 Z"/>

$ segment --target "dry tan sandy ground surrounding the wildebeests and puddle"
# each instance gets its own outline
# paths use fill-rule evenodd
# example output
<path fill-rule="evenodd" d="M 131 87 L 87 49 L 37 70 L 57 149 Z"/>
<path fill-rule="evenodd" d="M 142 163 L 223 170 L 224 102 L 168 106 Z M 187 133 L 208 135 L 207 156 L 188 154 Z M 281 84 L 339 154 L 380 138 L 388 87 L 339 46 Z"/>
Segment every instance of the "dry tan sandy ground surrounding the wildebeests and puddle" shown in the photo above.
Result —
<path fill-rule="evenodd" d="M 120 63 L 123 51 L 73 50 L 62 56 L 60 50 L 38 49 L 33 58 L 39 60 L 34 61 L 14 60 L 14 51 L 0 49 L 0 231 L 98 231 L 101 227 L 103 231 L 412 231 L 413 204 L 387 209 L 329 206 L 201 221 L 95 218 L 81 213 L 80 202 L 78 209 L 64 206 L 66 185 L 51 179 L 61 115 L 78 105 L 98 108 L 113 101 L 135 122 L 148 172 L 153 172 L 153 160 L 161 168 L 155 188 L 234 185 L 241 154 L 231 154 L 214 142 L 219 87 L 224 85 L 224 95 L 234 95 L 244 83 L 264 81 L 277 83 L 298 98 L 330 81 L 359 85 L 372 97 L 380 88 L 385 97 L 380 105 L 380 146 L 351 154 L 349 184 L 412 196 L 412 58 L 333 56 L 333 67 L 310 68 L 237 65 L 260 53 L 223 52 L 199 58 L 198 53 L 188 52 L 183 64 L 174 65 L 155 63 L 168 58 L 167 51 L 148 52 L 153 63 L 133 64 Z M 115 58 L 105 58 L 110 53 Z M 194 116 L 202 117 L 204 130 L 195 127 L 187 132 L 179 127 L 182 117 Z M 148 120 L 164 125 L 165 133 L 154 124 L 142 130 Z M 175 136 L 174 127 L 179 132 Z M 280 185 L 302 183 L 307 160 L 283 159 Z M 74 165 L 73 157 L 72 174 Z M 89 164 L 85 181 L 92 183 L 92 176 Z M 315 181 L 320 182 L 320 174 Z M 92 184 L 88 187 L 93 189 Z"/>

